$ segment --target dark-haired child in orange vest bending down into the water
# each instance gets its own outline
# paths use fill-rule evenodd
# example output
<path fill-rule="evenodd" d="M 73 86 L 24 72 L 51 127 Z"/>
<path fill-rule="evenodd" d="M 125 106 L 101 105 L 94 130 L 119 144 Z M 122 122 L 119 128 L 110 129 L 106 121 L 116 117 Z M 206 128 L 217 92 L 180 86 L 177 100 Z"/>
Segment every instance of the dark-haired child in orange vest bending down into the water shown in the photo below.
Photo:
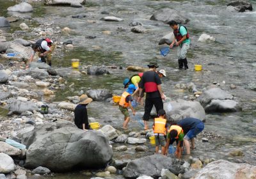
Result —
<path fill-rule="evenodd" d="M 173 144 L 174 141 L 176 141 L 177 144 L 177 150 L 175 152 L 175 156 L 180 159 L 181 153 L 182 153 L 182 146 L 183 146 L 183 138 L 184 138 L 184 132 L 179 125 L 171 125 L 170 129 L 168 130 L 167 134 L 167 143 L 166 143 L 166 152 L 168 153 L 168 148 L 170 144 Z"/>

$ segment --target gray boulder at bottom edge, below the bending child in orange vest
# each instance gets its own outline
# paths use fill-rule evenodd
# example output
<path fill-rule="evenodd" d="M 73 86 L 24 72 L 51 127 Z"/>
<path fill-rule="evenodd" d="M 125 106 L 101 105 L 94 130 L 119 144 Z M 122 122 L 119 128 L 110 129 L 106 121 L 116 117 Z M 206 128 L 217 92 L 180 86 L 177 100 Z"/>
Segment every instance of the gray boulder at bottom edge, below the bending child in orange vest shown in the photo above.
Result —
<path fill-rule="evenodd" d="M 172 158 L 164 155 L 150 155 L 129 162 L 125 167 L 124 176 L 125 178 L 137 178 L 147 175 L 158 178 L 161 176 L 162 169 L 169 169 L 175 175 L 184 173 L 184 168 L 173 164 Z"/>

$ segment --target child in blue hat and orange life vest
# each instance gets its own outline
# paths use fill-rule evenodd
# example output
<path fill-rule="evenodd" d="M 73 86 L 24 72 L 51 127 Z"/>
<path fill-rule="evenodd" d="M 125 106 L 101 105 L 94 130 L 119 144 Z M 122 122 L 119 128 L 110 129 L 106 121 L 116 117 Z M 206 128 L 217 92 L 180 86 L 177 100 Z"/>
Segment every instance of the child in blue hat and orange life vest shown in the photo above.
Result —
<path fill-rule="evenodd" d="M 132 107 L 131 101 L 133 100 L 132 98 L 132 93 L 136 90 L 136 86 L 134 84 L 129 84 L 128 88 L 124 93 L 122 94 L 122 97 L 120 98 L 119 102 L 119 110 L 124 114 L 124 124 L 123 128 L 128 128 L 128 123 L 130 121 L 130 115 L 128 112 L 128 107 L 131 108 L 132 114 L 135 115 L 135 110 Z"/>

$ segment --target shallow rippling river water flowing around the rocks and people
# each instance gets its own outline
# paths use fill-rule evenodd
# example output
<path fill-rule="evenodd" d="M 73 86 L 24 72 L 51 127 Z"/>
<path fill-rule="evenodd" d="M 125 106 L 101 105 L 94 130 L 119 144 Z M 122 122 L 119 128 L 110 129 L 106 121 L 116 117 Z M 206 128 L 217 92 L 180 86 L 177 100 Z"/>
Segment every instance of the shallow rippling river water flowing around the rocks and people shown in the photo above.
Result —
<path fill-rule="evenodd" d="M 227 159 L 235 162 L 256 164 L 256 92 L 248 89 L 248 84 L 255 81 L 255 47 L 256 25 L 255 1 L 252 12 L 228 12 L 225 1 L 86 1 L 84 8 L 70 8 L 61 6 L 43 6 L 34 4 L 33 20 L 25 20 L 31 26 L 45 22 L 53 22 L 60 27 L 69 27 L 72 33 L 62 34 L 60 41 L 72 40 L 74 49 L 65 49 L 59 56 L 54 56 L 53 66 L 70 68 L 70 59 L 81 60 L 81 68 L 87 65 L 116 65 L 124 69 L 109 69 L 110 75 L 68 78 L 68 83 L 74 87 L 65 88 L 56 92 L 54 100 L 65 100 L 67 96 L 77 95 L 79 91 L 87 89 L 111 89 L 114 94 L 120 95 L 124 90 L 122 81 L 135 72 L 128 72 L 125 67 L 138 65 L 147 67 L 150 61 L 157 61 L 159 69 L 166 70 L 168 77 L 163 79 L 163 90 L 172 100 L 191 95 L 189 91 L 177 91 L 175 84 L 194 82 L 198 90 L 219 82 L 220 87 L 229 91 L 235 100 L 241 104 L 243 111 L 237 113 L 207 114 L 205 131 L 218 134 L 221 139 L 212 139 L 209 143 L 198 141 L 194 157 L 204 156 L 215 159 Z M 8 15 L 6 8 L 13 2 L 0 0 L 0 15 Z M 3 8 L 2 8 L 3 7 Z M 190 20 L 186 27 L 191 35 L 191 49 L 188 52 L 189 70 L 179 71 L 175 49 L 168 56 L 159 54 L 158 42 L 162 36 L 170 33 L 171 29 L 163 22 L 149 20 L 154 12 L 161 8 L 172 8 Z M 105 22 L 100 20 L 109 15 L 124 19 L 121 22 Z M 83 19 L 73 19 L 72 15 L 84 13 Z M 12 25 L 10 32 L 19 29 L 20 22 Z M 147 30 L 143 34 L 132 33 L 129 24 L 137 21 Z M 123 29 L 122 31 L 118 29 Z M 110 31 L 106 35 L 103 31 Z M 214 36 L 214 43 L 197 42 L 202 33 Z M 96 38 L 86 38 L 96 36 Z M 26 36 L 35 40 L 37 37 Z M 195 72 L 193 65 L 201 64 L 202 72 Z M 236 89 L 231 90 L 230 84 Z M 100 110 L 99 110 L 100 109 Z M 109 123 L 113 127 L 122 125 L 122 114 L 118 107 L 109 102 L 93 102 L 89 105 L 90 116 L 102 124 Z M 143 109 L 138 109 L 142 116 Z M 139 130 L 140 124 L 132 121 L 130 127 Z M 228 153 L 240 149 L 244 157 L 230 157 Z M 154 149 L 150 148 L 151 154 Z M 127 154 L 127 155 L 126 155 Z M 144 155 L 127 152 L 125 157 L 115 153 L 114 158 L 138 158 Z M 150 152 L 148 153 L 150 154 Z M 76 175 L 79 175 L 76 173 Z M 80 176 L 67 176 L 79 178 Z M 81 177 L 84 177 L 82 175 Z"/>

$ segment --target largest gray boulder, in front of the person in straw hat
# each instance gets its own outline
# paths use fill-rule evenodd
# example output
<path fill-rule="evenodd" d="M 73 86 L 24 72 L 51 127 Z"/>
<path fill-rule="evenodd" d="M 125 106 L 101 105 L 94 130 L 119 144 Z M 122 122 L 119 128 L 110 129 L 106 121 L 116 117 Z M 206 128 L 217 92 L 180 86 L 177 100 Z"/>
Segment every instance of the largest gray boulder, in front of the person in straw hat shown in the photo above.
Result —
<path fill-rule="evenodd" d="M 113 157 L 108 139 L 101 132 L 85 132 L 63 120 L 35 127 L 22 136 L 22 143 L 28 147 L 28 168 L 44 166 L 55 172 L 101 168 Z"/>

